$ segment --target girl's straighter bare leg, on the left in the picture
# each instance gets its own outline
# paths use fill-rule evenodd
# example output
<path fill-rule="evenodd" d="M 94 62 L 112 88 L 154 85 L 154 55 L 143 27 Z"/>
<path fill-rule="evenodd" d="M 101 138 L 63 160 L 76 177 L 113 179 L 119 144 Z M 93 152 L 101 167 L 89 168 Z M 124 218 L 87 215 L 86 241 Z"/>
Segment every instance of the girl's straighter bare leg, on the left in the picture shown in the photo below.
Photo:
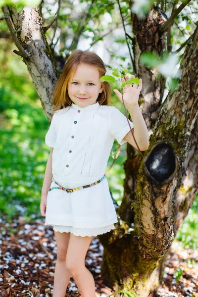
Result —
<path fill-rule="evenodd" d="M 65 297 L 66 289 L 70 280 L 70 273 L 65 266 L 70 232 L 60 233 L 54 231 L 57 245 L 57 260 L 55 264 L 53 297 Z"/>

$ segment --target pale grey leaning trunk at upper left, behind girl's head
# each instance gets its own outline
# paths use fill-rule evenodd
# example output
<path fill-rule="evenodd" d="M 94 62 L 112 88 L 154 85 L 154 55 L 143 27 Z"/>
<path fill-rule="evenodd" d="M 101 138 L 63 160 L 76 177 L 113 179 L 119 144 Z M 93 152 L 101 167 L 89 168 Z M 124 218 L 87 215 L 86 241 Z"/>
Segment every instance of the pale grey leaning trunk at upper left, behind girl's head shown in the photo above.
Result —
<path fill-rule="evenodd" d="M 22 57 L 23 62 L 27 65 L 41 104 L 50 121 L 53 115 L 51 94 L 57 81 L 57 71 L 44 34 L 39 7 L 25 6 L 20 13 L 13 6 L 9 6 L 8 9 L 13 29 L 18 30 L 22 26 L 21 31 L 17 32 L 17 39 L 30 54 L 29 57 Z M 20 52 L 17 54 L 20 55 Z"/>

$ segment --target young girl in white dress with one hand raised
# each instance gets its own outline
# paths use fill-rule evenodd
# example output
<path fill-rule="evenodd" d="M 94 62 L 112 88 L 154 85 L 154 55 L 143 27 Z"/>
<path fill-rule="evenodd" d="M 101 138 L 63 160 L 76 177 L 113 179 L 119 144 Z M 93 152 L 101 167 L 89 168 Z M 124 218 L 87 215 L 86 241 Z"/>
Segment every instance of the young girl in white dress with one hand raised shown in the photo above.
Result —
<path fill-rule="evenodd" d="M 82 297 L 96 296 L 86 253 L 93 236 L 115 229 L 118 222 L 104 176 L 107 161 L 114 139 L 136 148 L 126 116 L 109 105 L 110 85 L 100 82 L 105 72 L 96 53 L 76 49 L 53 91 L 55 112 L 45 139 L 51 151 L 40 205 L 57 244 L 53 297 L 65 296 L 70 276 Z M 138 105 L 141 89 L 142 80 L 138 88 L 126 86 L 124 101 L 133 117 L 131 128 L 137 130 L 136 141 L 146 150 L 148 130 Z M 122 101 L 120 92 L 115 93 Z"/>

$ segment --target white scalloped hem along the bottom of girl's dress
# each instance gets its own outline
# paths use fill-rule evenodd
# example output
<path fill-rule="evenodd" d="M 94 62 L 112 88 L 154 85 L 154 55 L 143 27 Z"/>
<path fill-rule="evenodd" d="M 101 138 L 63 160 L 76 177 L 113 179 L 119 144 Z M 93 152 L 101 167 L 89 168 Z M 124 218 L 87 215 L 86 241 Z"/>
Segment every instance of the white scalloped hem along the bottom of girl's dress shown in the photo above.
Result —
<path fill-rule="evenodd" d="M 82 236 L 82 237 L 97 236 L 115 229 L 114 224 L 110 224 L 108 226 L 101 227 L 101 228 L 73 228 L 72 226 L 51 225 L 47 223 L 45 223 L 45 225 L 53 226 L 53 230 L 56 232 L 60 232 L 60 233 L 70 232 L 75 236 Z"/>

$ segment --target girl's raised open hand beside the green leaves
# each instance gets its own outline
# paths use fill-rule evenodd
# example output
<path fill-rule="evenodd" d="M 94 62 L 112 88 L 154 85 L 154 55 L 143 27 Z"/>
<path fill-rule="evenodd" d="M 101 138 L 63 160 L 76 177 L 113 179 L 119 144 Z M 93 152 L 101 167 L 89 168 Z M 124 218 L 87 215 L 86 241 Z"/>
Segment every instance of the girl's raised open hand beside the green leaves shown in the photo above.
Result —
<path fill-rule="evenodd" d="M 125 75 L 125 78 L 126 78 L 126 80 L 130 79 L 128 77 L 128 75 Z M 135 75 L 132 75 L 131 78 L 135 78 Z M 122 78 L 122 83 L 124 81 L 125 81 L 124 78 Z M 137 84 L 126 85 L 123 89 L 124 104 L 126 106 L 137 105 L 141 90 L 142 90 L 142 78 L 140 78 L 140 84 L 139 84 L 138 88 L 137 88 Z M 117 97 L 120 99 L 120 101 L 123 103 L 122 94 L 117 89 L 114 89 L 113 91 L 115 92 Z"/>

